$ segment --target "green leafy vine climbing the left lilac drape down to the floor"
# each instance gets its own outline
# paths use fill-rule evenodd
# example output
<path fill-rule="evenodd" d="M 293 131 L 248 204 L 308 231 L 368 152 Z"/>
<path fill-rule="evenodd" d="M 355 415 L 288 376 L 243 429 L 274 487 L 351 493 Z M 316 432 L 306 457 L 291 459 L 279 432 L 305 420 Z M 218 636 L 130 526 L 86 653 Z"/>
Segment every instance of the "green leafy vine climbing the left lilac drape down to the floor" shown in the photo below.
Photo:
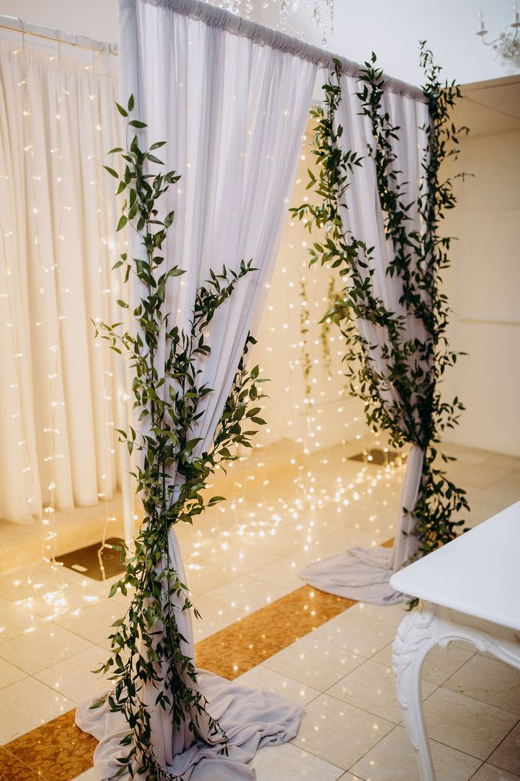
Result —
<path fill-rule="evenodd" d="M 162 768 L 154 754 L 150 708 L 163 708 L 173 729 L 187 724 L 194 739 L 209 734 L 220 740 L 224 752 L 227 738 L 197 688 L 193 659 L 183 651 L 186 640 L 177 619 L 193 606 L 170 558 L 168 532 L 176 523 L 193 523 L 205 508 L 223 499 L 206 496 L 207 479 L 218 465 L 237 458 L 233 446 L 251 447 L 256 426 L 264 423 L 257 402 L 264 398 L 259 383 L 266 380 L 259 379 L 258 366 L 246 368 L 246 354 L 254 344 L 249 336 L 213 440 L 200 452 L 196 425 L 204 400 L 212 393 L 200 380 L 200 362 L 210 355 L 207 327 L 242 277 L 256 269 L 251 261 L 242 261 L 236 272 L 225 267 L 221 273 L 210 271 L 210 279 L 196 291 L 189 327 L 182 330 L 175 324 L 165 311 L 165 301 L 184 272 L 179 266 L 164 268 L 164 244 L 175 215 L 169 212 L 161 219 L 160 201 L 180 177 L 175 171 L 161 173 L 163 163 L 154 150 L 164 141 L 140 148 L 135 129 L 147 126 L 129 119 L 133 97 L 126 109 L 118 105 L 118 110 L 127 121 L 127 144 L 111 153 L 121 156 L 122 176 L 104 167 L 118 180 L 117 193 L 126 195 L 118 230 L 128 223 L 139 235 L 142 251 L 139 258 L 123 253 L 114 268 L 124 267 L 125 281 L 135 276 L 140 300 L 130 309 L 132 330 L 123 330 L 122 323 L 95 326 L 112 350 L 126 355 L 132 369 L 133 407 L 139 423 L 119 434 L 129 452 L 136 453 L 133 476 L 144 518 L 133 551 L 125 551 L 126 572 L 110 592 L 110 596 L 118 590 L 129 594 L 125 615 L 113 625 L 110 657 L 99 671 L 110 676 L 113 688 L 93 707 L 106 701 L 128 723 L 119 758 L 121 773 L 172 781 L 176 776 Z M 159 173 L 151 173 L 152 169 Z M 119 305 L 129 308 L 126 301 Z"/>

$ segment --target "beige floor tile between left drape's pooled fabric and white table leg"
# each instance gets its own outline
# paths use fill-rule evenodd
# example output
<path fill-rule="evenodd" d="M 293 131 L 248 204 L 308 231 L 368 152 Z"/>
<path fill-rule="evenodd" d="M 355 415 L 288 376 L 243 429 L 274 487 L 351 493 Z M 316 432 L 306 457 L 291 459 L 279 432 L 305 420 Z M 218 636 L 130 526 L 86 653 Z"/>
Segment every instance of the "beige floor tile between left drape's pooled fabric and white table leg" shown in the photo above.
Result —
<path fill-rule="evenodd" d="M 299 733 L 292 742 L 347 770 L 393 726 L 324 694 L 306 706 Z"/>

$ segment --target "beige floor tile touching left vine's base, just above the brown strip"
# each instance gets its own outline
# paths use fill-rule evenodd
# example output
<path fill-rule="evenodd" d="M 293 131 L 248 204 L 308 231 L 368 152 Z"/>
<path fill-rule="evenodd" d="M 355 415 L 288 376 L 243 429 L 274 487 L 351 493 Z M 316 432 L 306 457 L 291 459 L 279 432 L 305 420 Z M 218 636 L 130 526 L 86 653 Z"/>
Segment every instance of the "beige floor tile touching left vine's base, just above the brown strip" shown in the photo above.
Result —
<path fill-rule="evenodd" d="M 51 665 L 34 677 L 41 680 L 58 694 L 68 697 L 76 704 L 101 694 L 111 687 L 111 682 L 94 675 L 92 670 L 101 667 L 108 659 L 108 654 L 99 646 L 91 646 L 79 654 Z"/>

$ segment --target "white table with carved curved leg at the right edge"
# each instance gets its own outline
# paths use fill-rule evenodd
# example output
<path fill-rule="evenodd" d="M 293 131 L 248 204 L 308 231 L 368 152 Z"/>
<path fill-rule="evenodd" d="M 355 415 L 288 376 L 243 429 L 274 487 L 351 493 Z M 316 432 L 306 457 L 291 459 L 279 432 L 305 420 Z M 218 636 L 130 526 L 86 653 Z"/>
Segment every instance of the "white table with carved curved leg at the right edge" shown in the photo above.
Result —
<path fill-rule="evenodd" d="M 421 781 L 435 781 L 421 668 L 434 645 L 469 640 L 520 669 L 520 501 L 396 572 L 391 586 L 423 604 L 398 627 L 392 666 Z"/>

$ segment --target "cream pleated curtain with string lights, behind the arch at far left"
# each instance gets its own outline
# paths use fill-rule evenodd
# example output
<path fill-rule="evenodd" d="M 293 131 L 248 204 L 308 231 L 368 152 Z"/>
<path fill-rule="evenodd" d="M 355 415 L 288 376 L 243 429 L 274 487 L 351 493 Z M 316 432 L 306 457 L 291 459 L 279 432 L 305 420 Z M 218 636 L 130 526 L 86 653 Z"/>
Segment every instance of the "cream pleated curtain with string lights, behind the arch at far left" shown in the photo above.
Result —
<path fill-rule="evenodd" d="M 90 319 L 115 321 L 116 80 L 108 51 L 0 41 L 0 519 L 111 496 L 116 369 Z M 34 43 L 34 41 L 37 41 Z"/>

